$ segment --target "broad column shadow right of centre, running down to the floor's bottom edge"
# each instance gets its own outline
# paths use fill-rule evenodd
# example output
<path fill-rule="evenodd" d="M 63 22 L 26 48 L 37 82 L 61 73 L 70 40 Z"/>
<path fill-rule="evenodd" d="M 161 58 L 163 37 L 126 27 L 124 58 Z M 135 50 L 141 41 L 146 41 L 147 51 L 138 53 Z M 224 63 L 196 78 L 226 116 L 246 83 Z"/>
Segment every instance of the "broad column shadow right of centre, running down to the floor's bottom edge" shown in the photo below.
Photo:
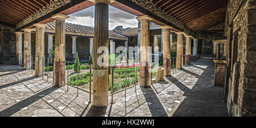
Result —
<path fill-rule="evenodd" d="M 141 90 L 146 99 L 146 102 L 148 103 L 148 108 L 150 109 L 152 116 L 168 117 L 166 110 L 164 110 L 162 103 L 158 99 L 158 96 L 156 96 L 156 93 L 153 91 L 153 89 L 141 87 Z"/>

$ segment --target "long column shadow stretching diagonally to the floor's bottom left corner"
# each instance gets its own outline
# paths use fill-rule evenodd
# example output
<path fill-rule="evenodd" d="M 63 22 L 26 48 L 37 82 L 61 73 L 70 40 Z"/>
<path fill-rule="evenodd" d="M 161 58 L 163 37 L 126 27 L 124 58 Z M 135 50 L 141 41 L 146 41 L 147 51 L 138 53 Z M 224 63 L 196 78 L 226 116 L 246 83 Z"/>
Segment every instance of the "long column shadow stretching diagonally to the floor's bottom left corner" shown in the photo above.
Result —
<path fill-rule="evenodd" d="M 13 106 L 10 106 L 9 108 L 6 108 L 5 110 L 2 110 L 0 112 L 0 117 L 10 117 L 16 112 L 19 112 L 20 109 L 31 105 L 32 103 L 35 103 L 39 99 L 42 99 L 44 96 L 49 95 L 49 93 L 55 91 L 58 89 L 57 87 L 50 87 L 47 89 L 44 89 L 42 92 L 36 93 L 35 95 L 28 97 L 27 99 L 24 99 L 22 101 L 19 101 L 18 103 L 14 104 Z M 39 96 L 40 95 L 40 96 Z M 44 96 L 42 96 L 44 95 Z"/>

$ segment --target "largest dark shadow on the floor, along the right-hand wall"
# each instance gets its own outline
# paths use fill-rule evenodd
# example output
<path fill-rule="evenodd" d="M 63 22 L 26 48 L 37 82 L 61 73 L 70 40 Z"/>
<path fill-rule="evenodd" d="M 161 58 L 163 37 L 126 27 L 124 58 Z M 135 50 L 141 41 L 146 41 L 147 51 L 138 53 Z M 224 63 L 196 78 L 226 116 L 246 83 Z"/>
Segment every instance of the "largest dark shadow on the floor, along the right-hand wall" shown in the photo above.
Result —
<path fill-rule="evenodd" d="M 196 64 L 199 65 L 199 64 Z M 223 100 L 223 88 L 209 86 L 205 80 L 210 79 L 210 75 L 214 74 L 214 65 L 206 64 L 208 67 L 203 69 L 201 77 L 198 77 L 195 86 L 192 89 L 186 88 L 177 79 L 170 79 L 175 86 L 179 87 L 186 96 L 176 112 L 174 117 L 212 117 L 212 116 L 228 116 L 228 110 Z M 184 71 L 184 70 L 183 70 Z M 193 74 L 191 71 L 185 71 Z"/>

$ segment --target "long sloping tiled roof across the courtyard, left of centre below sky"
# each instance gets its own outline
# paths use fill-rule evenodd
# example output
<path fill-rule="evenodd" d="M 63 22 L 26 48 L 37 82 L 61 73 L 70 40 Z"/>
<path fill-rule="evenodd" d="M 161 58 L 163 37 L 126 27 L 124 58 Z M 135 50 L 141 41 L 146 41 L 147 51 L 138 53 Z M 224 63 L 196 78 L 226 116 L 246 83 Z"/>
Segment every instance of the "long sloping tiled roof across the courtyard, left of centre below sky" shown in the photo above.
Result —
<path fill-rule="evenodd" d="M 48 23 L 46 26 L 46 29 L 55 29 L 55 22 Z M 86 34 L 94 34 L 94 28 L 88 27 L 85 25 L 80 24 L 72 24 L 72 23 L 66 23 L 66 31 L 67 32 L 78 32 L 78 33 L 86 33 Z M 115 33 L 113 31 L 109 31 L 110 37 L 118 37 L 126 39 L 126 36 L 120 35 L 118 33 Z"/>

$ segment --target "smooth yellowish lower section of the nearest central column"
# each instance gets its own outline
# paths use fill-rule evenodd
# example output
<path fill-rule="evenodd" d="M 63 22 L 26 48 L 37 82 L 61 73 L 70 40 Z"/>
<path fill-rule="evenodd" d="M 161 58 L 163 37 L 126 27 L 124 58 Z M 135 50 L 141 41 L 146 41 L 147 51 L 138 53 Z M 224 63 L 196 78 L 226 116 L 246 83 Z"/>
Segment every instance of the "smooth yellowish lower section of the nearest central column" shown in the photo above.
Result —
<path fill-rule="evenodd" d="M 108 106 L 109 69 L 93 69 L 93 106 Z"/>

